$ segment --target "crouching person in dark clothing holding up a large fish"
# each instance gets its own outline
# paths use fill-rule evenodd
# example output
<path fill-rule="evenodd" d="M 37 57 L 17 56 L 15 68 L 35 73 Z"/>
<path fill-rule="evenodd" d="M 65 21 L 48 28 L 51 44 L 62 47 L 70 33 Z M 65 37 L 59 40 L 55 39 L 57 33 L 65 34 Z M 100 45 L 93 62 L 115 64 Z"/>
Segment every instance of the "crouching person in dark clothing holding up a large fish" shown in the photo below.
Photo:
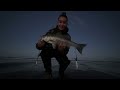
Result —
<path fill-rule="evenodd" d="M 71 36 L 68 31 L 68 17 L 65 12 L 63 12 L 58 17 L 58 23 L 55 28 L 50 29 L 45 35 L 56 35 L 62 36 L 65 40 L 71 41 Z M 44 35 L 43 35 L 44 36 Z M 41 59 L 44 64 L 45 72 L 47 74 L 47 79 L 52 79 L 52 69 L 51 69 L 51 58 L 55 57 L 59 63 L 59 79 L 64 78 L 64 72 L 70 64 L 70 60 L 67 57 L 69 48 L 66 43 L 61 42 L 57 44 L 54 49 L 50 43 L 43 40 L 38 40 L 36 43 L 36 48 L 42 50 L 40 53 Z"/>

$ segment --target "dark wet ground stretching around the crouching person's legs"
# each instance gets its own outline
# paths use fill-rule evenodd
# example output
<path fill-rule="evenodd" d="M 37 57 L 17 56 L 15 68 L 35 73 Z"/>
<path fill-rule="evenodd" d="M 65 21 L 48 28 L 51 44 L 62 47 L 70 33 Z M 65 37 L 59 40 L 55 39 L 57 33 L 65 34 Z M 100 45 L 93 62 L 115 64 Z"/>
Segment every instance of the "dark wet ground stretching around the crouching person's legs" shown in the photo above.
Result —
<path fill-rule="evenodd" d="M 38 64 L 35 60 L 13 61 L 0 63 L 0 79 L 44 79 L 45 72 L 41 60 Z M 79 61 L 79 67 L 76 69 L 73 60 L 65 71 L 65 79 L 120 79 L 119 72 L 112 67 L 113 62 L 111 65 L 110 62 L 107 65 L 105 63 L 107 62 Z M 53 79 L 58 79 L 59 65 L 55 60 L 52 60 L 52 70 Z"/>

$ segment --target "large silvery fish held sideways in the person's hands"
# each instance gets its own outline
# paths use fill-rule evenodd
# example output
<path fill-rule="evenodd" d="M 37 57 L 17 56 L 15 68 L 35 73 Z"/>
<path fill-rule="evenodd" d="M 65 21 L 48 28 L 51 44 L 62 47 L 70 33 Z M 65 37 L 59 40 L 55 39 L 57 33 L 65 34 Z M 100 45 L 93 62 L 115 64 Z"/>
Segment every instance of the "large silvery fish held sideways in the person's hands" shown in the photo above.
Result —
<path fill-rule="evenodd" d="M 41 40 L 52 44 L 52 47 L 55 49 L 56 45 L 58 45 L 59 43 L 65 43 L 67 47 L 74 47 L 78 50 L 78 52 L 80 54 L 82 54 L 83 48 L 87 45 L 87 44 L 78 44 L 72 40 L 67 40 L 65 38 L 63 38 L 63 36 L 56 36 L 56 35 L 44 35 L 41 37 Z"/>

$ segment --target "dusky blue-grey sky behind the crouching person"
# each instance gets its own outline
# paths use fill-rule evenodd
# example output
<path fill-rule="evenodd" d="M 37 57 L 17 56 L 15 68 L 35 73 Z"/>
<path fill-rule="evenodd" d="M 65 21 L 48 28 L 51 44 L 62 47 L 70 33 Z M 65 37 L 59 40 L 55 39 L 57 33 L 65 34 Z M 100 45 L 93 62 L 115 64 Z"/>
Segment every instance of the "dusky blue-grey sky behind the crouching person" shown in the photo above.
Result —
<path fill-rule="evenodd" d="M 36 57 L 40 36 L 57 24 L 62 11 L 0 11 L 0 56 Z M 120 58 L 120 11 L 66 11 L 72 41 L 86 43 L 69 58 Z M 75 54 L 76 53 L 76 54 Z"/>

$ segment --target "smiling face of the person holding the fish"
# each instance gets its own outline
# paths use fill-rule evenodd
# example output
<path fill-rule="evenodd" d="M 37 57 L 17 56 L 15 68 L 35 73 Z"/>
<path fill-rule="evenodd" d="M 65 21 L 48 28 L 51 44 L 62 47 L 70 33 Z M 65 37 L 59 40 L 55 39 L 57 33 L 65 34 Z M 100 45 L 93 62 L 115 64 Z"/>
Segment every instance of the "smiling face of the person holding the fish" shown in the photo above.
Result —
<path fill-rule="evenodd" d="M 67 19 L 65 17 L 60 17 L 58 20 L 58 28 L 64 30 L 67 27 Z"/>

